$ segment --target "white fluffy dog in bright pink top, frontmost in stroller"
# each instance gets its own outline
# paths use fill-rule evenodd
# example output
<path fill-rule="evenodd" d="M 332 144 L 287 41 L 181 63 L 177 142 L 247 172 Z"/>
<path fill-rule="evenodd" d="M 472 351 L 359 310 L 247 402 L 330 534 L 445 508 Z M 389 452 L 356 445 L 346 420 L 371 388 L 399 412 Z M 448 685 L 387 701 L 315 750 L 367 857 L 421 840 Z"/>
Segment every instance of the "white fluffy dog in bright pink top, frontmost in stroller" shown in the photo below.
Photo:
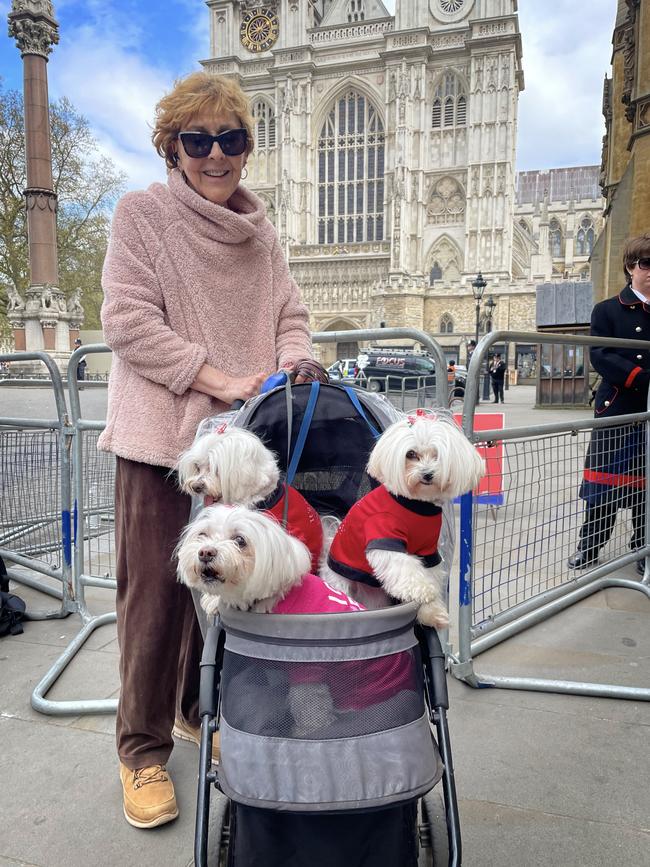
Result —
<path fill-rule="evenodd" d="M 243 506 L 204 509 L 185 528 L 176 554 L 179 580 L 201 592 L 209 615 L 224 606 L 275 614 L 363 610 L 309 574 L 311 558 L 302 542 L 274 518 Z M 296 669 L 288 696 L 298 736 L 336 719 L 326 677 L 315 676 L 313 665 L 308 671 L 305 679 Z"/>

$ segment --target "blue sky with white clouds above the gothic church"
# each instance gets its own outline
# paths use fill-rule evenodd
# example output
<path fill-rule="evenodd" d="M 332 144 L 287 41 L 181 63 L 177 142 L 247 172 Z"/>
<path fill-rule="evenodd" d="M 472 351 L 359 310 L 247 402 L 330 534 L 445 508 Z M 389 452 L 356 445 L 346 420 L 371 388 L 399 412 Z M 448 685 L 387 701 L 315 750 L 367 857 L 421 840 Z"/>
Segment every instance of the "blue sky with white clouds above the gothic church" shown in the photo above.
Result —
<path fill-rule="evenodd" d="M 385 0 L 392 11 L 394 0 Z M 48 64 L 50 96 L 90 121 L 128 186 L 162 180 L 150 144 L 153 107 L 175 78 L 209 56 L 203 0 L 54 0 L 60 42 Z M 0 0 L 6 22 L 10 0 Z M 552 8 L 553 13 L 550 13 Z M 600 162 L 602 82 L 610 70 L 615 0 L 519 0 L 526 89 L 519 99 L 517 168 Z M 22 86 L 15 42 L 0 28 L 0 75 Z"/>

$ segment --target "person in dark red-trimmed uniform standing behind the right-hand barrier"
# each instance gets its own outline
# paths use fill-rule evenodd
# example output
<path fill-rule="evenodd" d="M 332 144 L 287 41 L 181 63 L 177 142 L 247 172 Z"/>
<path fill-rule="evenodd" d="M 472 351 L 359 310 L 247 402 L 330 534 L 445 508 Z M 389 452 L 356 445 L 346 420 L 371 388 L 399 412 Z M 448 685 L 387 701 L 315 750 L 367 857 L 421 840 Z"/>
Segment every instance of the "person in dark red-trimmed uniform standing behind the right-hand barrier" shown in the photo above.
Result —
<path fill-rule="evenodd" d="M 591 333 L 648 341 L 648 348 L 590 347 L 591 364 L 602 381 L 595 397 L 596 418 L 645 412 L 650 384 L 650 234 L 631 238 L 623 251 L 625 288 L 614 298 L 596 304 Z M 626 425 L 595 429 L 591 436 L 579 495 L 585 503 L 578 548 L 569 558 L 570 569 L 585 569 L 598 562 L 608 542 L 619 509 L 632 512 L 632 550 L 645 545 L 646 455 L 645 426 Z M 644 574 L 645 560 L 637 561 Z"/>

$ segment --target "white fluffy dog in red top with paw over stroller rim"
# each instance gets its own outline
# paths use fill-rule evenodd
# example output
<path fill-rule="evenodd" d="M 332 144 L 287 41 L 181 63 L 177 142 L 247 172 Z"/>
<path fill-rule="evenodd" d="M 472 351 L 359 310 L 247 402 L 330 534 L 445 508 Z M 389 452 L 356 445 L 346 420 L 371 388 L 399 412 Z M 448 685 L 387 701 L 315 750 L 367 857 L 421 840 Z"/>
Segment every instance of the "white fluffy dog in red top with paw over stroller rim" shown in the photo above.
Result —
<path fill-rule="evenodd" d="M 384 431 L 367 470 L 381 485 L 350 509 L 321 575 L 367 608 L 418 602 L 421 623 L 447 626 L 441 505 L 478 484 L 483 459 L 450 415 L 418 410 Z"/>

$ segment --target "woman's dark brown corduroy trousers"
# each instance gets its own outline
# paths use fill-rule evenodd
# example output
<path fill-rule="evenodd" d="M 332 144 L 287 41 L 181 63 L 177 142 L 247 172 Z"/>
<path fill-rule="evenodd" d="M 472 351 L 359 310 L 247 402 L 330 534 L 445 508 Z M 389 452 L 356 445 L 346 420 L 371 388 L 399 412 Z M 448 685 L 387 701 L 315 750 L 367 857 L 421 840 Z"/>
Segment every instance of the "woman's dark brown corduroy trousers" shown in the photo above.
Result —
<path fill-rule="evenodd" d="M 165 764 L 174 717 L 198 726 L 203 640 L 192 596 L 176 579 L 174 547 L 190 498 L 165 467 L 117 459 L 117 638 L 120 761 L 135 770 Z"/>

